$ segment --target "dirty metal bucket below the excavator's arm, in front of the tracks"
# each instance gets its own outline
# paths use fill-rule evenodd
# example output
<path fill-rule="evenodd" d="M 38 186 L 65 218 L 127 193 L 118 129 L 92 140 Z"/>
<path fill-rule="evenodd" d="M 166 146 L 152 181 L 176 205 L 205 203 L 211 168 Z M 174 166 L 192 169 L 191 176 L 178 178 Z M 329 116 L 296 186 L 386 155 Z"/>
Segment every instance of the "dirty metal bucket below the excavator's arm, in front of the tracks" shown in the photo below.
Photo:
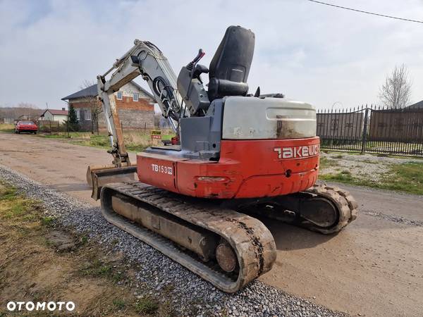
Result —
<path fill-rule="evenodd" d="M 92 199 L 98 200 L 102 187 L 112 182 L 128 182 L 136 179 L 137 166 L 124 166 L 116 168 L 116 166 L 88 166 L 87 182 L 92 188 Z"/>

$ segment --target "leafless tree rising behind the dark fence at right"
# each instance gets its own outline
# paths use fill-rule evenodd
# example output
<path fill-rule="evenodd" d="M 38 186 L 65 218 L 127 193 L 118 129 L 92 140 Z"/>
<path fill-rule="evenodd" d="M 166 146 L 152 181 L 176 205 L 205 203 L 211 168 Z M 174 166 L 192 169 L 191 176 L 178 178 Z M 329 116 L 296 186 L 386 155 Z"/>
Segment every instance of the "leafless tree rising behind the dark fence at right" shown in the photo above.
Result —
<path fill-rule="evenodd" d="M 395 66 L 392 73 L 386 76 L 384 85 L 379 89 L 379 99 L 392 109 L 404 108 L 410 103 L 411 81 L 407 67 L 402 64 Z"/>

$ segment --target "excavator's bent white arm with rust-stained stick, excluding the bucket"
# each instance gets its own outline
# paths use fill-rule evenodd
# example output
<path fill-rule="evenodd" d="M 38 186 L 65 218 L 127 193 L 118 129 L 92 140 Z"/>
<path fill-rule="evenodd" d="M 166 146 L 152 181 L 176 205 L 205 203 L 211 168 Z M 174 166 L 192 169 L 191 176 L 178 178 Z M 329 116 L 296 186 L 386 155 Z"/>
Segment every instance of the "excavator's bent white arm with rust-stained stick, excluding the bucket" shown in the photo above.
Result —
<path fill-rule="evenodd" d="M 109 73 L 111 76 L 109 80 L 106 80 Z M 109 153 L 114 156 L 113 164 L 116 168 L 131 164 L 123 142 L 114 92 L 139 75 L 147 81 L 163 116 L 168 119 L 171 128 L 177 134 L 180 116 L 189 116 L 182 106 L 182 98 L 177 90 L 176 75 L 167 58 L 151 42 L 135 39 L 134 46 L 129 51 L 118 58 L 106 73 L 97 76 L 98 96 L 106 117 L 111 143 Z"/>

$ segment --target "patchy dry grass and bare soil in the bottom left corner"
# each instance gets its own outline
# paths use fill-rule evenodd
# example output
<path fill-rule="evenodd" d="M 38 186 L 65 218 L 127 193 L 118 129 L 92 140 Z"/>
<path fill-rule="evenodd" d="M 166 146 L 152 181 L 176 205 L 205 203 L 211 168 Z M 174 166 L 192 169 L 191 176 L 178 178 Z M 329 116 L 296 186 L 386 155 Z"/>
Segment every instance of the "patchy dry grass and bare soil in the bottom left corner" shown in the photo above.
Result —
<path fill-rule="evenodd" d="M 163 304 L 146 293 L 137 299 L 130 286 L 137 268 L 128 266 L 121 256 L 99 249 L 85 235 L 66 233 L 59 223 L 51 226 L 53 221 L 45 216 L 39 201 L 28 199 L 0 180 L 1 296 L 40 302 L 71 300 L 78 316 L 174 315 L 171 294 L 167 295 L 169 302 Z M 55 232 L 86 241 L 70 251 L 57 252 Z M 59 316 L 56 313 L 49 316 Z M 45 312 L 33 315 L 46 316 Z M 0 306 L 0 316 L 9 316 L 6 306 Z"/>

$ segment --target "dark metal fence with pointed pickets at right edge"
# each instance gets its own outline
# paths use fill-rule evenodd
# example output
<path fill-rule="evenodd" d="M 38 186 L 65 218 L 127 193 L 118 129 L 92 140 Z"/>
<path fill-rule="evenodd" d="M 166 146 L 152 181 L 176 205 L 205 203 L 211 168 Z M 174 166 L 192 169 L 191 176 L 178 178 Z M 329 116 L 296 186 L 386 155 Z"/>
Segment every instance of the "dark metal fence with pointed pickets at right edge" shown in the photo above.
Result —
<path fill-rule="evenodd" d="M 321 149 L 423 156 L 423 109 L 376 106 L 317 112 Z"/>

